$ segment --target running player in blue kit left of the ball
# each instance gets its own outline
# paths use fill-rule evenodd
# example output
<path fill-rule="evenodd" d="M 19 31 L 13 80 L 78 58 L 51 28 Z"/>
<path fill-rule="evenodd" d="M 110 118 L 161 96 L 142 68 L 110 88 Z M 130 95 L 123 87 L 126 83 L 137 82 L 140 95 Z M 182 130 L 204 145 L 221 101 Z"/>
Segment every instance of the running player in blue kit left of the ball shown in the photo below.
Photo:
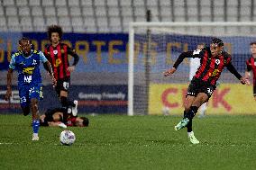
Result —
<path fill-rule="evenodd" d="M 12 96 L 12 79 L 15 69 L 18 72 L 18 88 L 23 115 L 28 115 L 30 110 L 32 110 L 32 140 L 39 140 L 40 121 L 38 104 L 42 98 L 41 62 L 49 72 L 53 85 L 56 85 L 56 80 L 53 76 L 50 62 L 41 51 L 32 49 L 31 40 L 22 38 L 19 40 L 19 45 L 21 50 L 14 53 L 9 64 L 5 100 L 9 101 Z"/>

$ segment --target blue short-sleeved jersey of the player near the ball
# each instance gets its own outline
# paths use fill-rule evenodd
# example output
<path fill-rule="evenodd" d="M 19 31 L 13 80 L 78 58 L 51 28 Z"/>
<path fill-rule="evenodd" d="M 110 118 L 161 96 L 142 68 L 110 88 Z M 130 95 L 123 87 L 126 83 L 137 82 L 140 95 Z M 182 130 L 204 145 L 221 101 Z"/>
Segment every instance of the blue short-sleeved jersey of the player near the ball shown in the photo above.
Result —
<path fill-rule="evenodd" d="M 14 53 L 9 68 L 18 72 L 18 85 L 32 85 L 41 83 L 40 63 L 45 63 L 47 58 L 41 51 L 31 50 L 29 57 L 24 57 L 22 51 Z"/>

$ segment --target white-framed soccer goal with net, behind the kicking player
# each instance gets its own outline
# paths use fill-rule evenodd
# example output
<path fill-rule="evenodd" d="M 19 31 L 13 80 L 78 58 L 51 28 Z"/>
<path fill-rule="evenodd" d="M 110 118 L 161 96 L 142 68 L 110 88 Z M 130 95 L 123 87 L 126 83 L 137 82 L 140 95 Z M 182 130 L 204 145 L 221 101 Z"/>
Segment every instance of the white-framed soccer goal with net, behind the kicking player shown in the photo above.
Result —
<path fill-rule="evenodd" d="M 173 76 L 165 77 L 162 73 L 173 66 L 181 52 L 194 50 L 199 43 L 208 45 L 213 37 L 224 41 L 224 49 L 233 57 L 233 66 L 243 76 L 245 60 L 251 57 L 250 43 L 256 41 L 256 22 L 132 22 L 128 115 L 181 114 L 190 58 L 183 60 Z M 207 112 L 256 112 L 252 87 L 241 85 L 226 69 L 219 82 Z"/>

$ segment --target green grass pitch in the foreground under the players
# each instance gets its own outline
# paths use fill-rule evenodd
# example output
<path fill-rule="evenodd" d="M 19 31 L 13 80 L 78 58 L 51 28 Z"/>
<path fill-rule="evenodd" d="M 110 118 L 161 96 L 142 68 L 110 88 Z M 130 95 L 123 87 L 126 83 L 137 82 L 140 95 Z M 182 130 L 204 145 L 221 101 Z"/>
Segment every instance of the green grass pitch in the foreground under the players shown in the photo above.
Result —
<path fill-rule="evenodd" d="M 31 141 L 31 117 L 0 115 L 0 169 L 175 169 L 256 168 L 256 116 L 194 119 L 200 144 L 187 130 L 175 131 L 178 116 L 89 116 L 88 128 L 69 128 L 77 140 L 61 146 L 63 129 L 40 129 Z"/>

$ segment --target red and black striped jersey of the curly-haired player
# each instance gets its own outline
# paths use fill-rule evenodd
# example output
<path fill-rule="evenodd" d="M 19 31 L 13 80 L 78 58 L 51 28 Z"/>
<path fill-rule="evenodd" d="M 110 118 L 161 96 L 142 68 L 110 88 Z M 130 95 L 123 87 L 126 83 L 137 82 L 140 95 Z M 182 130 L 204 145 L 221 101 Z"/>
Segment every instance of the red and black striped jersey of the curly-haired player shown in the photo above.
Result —
<path fill-rule="evenodd" d="M 73 66 L 78 63 L 79 59 L 74 50 L 64 43 L 59 43 L 56 47 L 52 45 L 47 46 L 44 50 L 44 55 L 50 61 L 56 80 L 70 76 L 68 55 L 74 58 Z"/>

